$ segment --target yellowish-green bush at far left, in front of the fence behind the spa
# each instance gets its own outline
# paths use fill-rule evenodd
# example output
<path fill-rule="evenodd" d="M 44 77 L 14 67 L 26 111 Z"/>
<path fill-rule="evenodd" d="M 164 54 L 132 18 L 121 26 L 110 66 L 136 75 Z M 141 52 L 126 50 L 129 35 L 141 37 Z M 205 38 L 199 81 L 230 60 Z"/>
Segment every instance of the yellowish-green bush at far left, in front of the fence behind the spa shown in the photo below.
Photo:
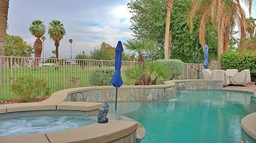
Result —
<path fill-rule="evenodd" d="M 42 78 L 34 78 L 29 74 L 13 80 L 11 90 L 19 96 L 21 102 L 35 101 L 38 96 L 46 97 L 50 94 L 50 87 Z"/>

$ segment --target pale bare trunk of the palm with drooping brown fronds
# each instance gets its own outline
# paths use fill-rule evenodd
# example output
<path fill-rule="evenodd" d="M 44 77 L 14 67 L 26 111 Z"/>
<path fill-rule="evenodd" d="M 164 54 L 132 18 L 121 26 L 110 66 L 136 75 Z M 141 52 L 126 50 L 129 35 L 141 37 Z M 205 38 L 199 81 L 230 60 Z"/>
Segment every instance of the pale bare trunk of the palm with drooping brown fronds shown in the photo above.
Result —
<path fill-rule="evenodd" d="M 221 70 L 221 59 L 220 56 L 223 53 L 223 31 L 222 31 L 222 20 L 218 23 L 218 70 Z"/>

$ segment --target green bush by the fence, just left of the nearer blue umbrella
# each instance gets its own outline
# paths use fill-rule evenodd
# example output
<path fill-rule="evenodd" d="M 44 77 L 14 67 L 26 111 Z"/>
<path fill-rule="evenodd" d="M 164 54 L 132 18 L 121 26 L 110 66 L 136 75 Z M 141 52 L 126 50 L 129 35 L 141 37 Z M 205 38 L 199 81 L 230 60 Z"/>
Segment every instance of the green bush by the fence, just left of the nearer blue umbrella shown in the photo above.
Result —
<path fill-rule="evenodd" d="M 96 68 L 89 75 L 89 83 L 91 86 L 107 86 L 112 85 L 110 80 L 115 73 L 115 69 Z"/>

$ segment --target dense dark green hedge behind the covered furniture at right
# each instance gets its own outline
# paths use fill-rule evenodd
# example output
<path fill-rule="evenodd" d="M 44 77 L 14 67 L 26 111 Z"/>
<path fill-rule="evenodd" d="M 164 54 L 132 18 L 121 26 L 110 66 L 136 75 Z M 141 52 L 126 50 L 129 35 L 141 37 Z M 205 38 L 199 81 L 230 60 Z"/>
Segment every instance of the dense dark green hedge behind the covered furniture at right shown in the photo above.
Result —
<path fill-rule="evenodd" d="M 221 55 L 222 69 L 238 69 L 238 72 L 248 69 L 251 78 L 256 77 L 256 53 L 244 50 L 242 53 L 224 52 Z"/>

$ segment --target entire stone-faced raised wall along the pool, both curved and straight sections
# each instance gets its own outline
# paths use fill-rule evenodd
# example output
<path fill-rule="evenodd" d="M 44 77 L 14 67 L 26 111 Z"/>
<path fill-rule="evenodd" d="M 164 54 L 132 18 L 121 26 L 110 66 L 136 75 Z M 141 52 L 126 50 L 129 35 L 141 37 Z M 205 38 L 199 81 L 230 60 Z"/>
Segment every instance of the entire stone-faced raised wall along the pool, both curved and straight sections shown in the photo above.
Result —
<path fill-rule="evenodd" d="M 181 82 L 182 81 L 182 82 Z M 171 80 L 175 84 L 166 88 L 155 88 L 154 86 L 141 86 L 141 88 L 118 88 L 117 101 L 154 101 L 174 98 L 174 93 L 180 90 L 220 90 L 222 81 L 212 80 Z M 166 83 L 168 83 L 166 82 Z M 139 87 L 139 86 L 138 86 Z M 93 89 L 73 93 L 67 96 L 66 101 L 74 102 L 111 102 L 116 99 L 116 89 Z"/>

